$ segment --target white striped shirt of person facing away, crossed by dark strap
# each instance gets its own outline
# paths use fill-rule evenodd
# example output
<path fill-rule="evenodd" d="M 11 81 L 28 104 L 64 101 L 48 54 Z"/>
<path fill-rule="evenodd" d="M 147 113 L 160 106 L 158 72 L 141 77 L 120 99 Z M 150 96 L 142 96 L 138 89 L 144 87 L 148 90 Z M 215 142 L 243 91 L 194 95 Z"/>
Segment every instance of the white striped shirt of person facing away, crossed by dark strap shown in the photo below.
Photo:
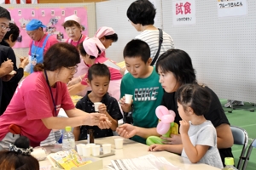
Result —
<path fill-rule="evenodd" d="M 135 39 L 143 40 L 144 42 L 148 43 L 150 48 L 150 57 L 152 60 L 154 59 L 155 54 L 159 48 L 159 31 L 158 30 L 145 30 L 141 34 L 137 35 Z M 168 49 L 174 48 L 174 43 L 172 37 L 163 31 L 163 42 L 160 49 L 160 54 L 165 53 Z M 156 63 L 156 62 L 155 62 Z M 154 65 L 155 65 L 154 63 Z"/>

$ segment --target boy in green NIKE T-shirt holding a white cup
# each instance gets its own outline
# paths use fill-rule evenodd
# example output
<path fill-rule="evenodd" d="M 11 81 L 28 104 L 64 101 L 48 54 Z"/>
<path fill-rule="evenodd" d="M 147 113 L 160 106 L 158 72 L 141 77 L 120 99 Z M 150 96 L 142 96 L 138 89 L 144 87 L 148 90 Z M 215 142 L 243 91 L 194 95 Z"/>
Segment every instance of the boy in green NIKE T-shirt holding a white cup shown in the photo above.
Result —
<path fill-rule="evenodd" d="M 117 129 L 120 136 L 125 137 L 125 128 L 156 127 L 158 118 L 155 109 L 162 100 L 164 90 L 159 82 L 159 75 L 150 65 L 150 48 L 142 40 L 131 40 L 124 49 L 124 59 L 127 71 L 121 82 L 121 96 L 119 103 L 124 112 L 132 111 L 133 126 L 124 124 Z M 131 104 L 125 103 L 125 94 L 131 94 Z M 135 131 L 135 130 L 134 130 Z M 132 132 L 132 131 L 129 131 Z M 136 133 L 129 134 L 129 138 L 145 144 L 145 138 Z"/>

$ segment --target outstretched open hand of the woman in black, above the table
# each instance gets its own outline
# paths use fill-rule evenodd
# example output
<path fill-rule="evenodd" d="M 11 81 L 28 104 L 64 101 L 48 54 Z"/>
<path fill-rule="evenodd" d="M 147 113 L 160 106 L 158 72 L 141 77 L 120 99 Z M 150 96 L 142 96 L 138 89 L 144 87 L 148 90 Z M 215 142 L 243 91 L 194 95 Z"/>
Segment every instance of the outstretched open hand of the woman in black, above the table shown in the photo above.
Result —
<path fill-rule="evenodd" d="M 137 133 L 137 128 L 131 124 L 123 124 L 116 128 L 116 132 L 125 139 L 130 139 Z"/>

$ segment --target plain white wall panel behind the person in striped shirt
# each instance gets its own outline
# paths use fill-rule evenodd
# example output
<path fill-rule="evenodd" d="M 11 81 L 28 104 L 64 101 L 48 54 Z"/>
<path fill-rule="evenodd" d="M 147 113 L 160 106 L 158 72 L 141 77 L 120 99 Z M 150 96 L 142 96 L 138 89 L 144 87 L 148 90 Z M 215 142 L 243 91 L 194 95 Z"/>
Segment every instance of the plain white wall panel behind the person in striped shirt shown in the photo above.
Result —
<path fill-rule="evenodd" d="M 96 26 L 112 27 L 119 36 L 118 42 L 113 42 L 112 47 L 106 50 L 106 56 L 116 62 L 122 61 L 123 49 L 127 42 L 136 37 L 140 32 L 131 26 L 126 16 L 127 8 L 134 0 L 112 0 L 102 3 L 96 3 Z M 161 1 L 154 2 L 157 11 L 155 17 L 155 26 L 161 27 Z"/>

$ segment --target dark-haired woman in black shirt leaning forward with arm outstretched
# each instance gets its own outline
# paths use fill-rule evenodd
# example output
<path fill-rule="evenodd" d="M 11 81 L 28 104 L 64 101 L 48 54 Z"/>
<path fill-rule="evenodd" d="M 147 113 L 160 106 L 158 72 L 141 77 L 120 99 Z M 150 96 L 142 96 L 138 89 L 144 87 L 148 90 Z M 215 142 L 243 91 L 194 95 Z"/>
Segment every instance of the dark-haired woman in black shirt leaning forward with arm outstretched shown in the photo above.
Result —
<path fill-rule="evenodd" d="M 172 110 L 176 113 L 174 122 L 179 124 L 181 117 L 178 115 L 175 93 L 183 84 L 197 84 L 192 60 L 190 59 L 189 54 L 183 50 L 169 49 L 166 53 L 160 56 L 155 68 L 160 75 L 159 81 L 165 89 L 161 105 L 165 105 L 168 110 Z M 212 89 L 208 87 L 206 87 L 206 89 L 211 94 L 212 101 L 210 103 L 209 111 L 207 111 L 204 116 L 207 120 L 211 121 L 213 126 L 216 128 L 218 150 L 222 161 L 224 162 L 224 157 L 233 157 L 231 146 L 234 141 L 230 129 L 230 122 L 224 114 L 224 110 L 219 102 L 218 96 L 212 91 Z M 129 125 L 127 129 L 117 129 L 117 132 L 119 134 L 121 133 L 121 136 L 124 136 L 125 138 L 131 138 L 131 135 L 135 134 L 142 136 L 143 138 L 148 138 L 148 136 L 151 135 L 160 136 L 160 134 L 156 132 L 156 128 L 146 129 Z M 172 144 L 173 148 L 175 148 L 175 144 L 182 144 L 179 134 L 171 134 L 170 138 L 161 138 L 166 140 L 163 142 L 164 144 Z"/>

